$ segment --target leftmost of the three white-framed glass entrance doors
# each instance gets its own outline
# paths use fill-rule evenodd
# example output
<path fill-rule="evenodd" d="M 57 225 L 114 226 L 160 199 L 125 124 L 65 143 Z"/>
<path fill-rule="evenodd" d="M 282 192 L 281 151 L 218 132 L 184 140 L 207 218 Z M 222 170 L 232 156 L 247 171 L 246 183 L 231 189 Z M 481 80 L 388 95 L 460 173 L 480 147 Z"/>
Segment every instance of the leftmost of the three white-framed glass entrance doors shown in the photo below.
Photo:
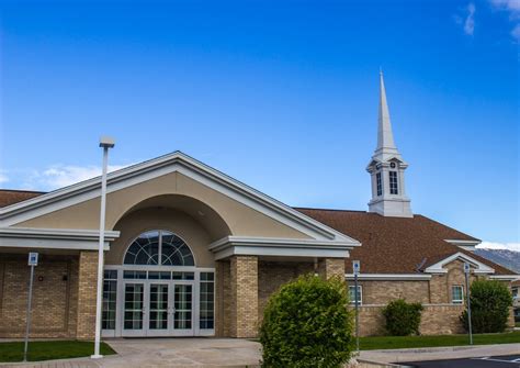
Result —
<path fill-rule="evenodd" d="M 145 283 L 124 283 L 123 336 L 143 336 L 145 320 Z"/>

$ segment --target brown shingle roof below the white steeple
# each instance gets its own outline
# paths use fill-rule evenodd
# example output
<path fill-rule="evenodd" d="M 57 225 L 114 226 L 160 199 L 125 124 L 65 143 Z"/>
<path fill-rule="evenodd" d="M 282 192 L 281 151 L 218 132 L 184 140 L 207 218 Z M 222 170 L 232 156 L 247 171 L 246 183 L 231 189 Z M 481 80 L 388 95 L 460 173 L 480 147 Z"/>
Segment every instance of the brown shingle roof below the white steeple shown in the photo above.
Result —
<path fill-rule="evenodd" d="M 365 274 L 416 274 L 457 252 L 493 267 L 498 275 L 512 275 L 490 260 L 461 249 L 444 239 L 478 241 L 420 214 L 386 218 L 363 211 L 295 210 L 361 242 L 347 260 L 352 272 L 352 259 L 361 260 Z"/>

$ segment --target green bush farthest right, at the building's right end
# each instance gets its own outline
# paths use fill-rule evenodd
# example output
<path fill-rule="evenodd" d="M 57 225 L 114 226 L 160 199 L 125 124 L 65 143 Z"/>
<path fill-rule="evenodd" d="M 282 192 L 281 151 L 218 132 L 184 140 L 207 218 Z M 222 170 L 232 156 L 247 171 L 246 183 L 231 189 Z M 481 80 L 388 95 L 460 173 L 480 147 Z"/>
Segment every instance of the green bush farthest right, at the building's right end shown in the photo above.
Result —
<path fill-rule="evenodd" d="M 504 332 L 507 327 L 512 297 L 508 287 L 497 280 L 476 280 L 470 287 L 472 331 L 476 334 Z M 461 314 L 467 331 L 467 305 Z"/>

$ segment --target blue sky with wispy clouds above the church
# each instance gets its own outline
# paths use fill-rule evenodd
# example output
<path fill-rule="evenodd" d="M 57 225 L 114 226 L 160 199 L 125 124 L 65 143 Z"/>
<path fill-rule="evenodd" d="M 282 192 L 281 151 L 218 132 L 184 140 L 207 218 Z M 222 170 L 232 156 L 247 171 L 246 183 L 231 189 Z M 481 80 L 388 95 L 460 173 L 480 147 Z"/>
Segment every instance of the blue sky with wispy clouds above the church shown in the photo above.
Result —
<path fill-rule="evenodd" d="M 515 0 L 1 1 L 0 186 L 95 175 L 108 134 L 115 167 L 181 149 L 366 210 L 381 66 L 414 212 L 520 243 L 519 20 Z"/>

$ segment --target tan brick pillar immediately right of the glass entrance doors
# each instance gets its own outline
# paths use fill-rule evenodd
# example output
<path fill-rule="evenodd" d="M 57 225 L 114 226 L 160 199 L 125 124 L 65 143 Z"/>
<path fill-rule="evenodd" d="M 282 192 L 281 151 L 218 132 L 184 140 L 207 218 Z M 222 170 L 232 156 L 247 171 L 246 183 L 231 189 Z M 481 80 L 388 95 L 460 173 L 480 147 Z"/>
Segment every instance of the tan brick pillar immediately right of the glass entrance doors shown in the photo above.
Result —
<path fill-rule="evenodd" d="M 258 257 L 233 256 L 230 261 L 230 337 L 258 335 Z"/>

